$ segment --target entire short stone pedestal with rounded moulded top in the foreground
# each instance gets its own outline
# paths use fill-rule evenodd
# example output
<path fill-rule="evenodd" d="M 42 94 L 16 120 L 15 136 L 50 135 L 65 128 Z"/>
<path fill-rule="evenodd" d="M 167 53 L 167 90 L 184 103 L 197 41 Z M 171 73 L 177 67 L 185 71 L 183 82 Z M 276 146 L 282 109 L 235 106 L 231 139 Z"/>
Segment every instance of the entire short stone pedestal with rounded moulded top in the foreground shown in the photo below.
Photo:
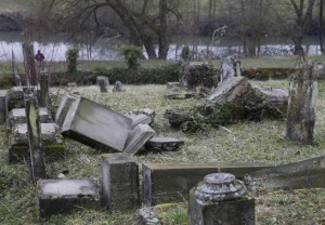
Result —
<path fill-rule="evenodd" d="M 190 191 L 190 225 L 253 225 L 255 200 L 244 198 L 247 188 L 230 173 L 206 175 Z"/>

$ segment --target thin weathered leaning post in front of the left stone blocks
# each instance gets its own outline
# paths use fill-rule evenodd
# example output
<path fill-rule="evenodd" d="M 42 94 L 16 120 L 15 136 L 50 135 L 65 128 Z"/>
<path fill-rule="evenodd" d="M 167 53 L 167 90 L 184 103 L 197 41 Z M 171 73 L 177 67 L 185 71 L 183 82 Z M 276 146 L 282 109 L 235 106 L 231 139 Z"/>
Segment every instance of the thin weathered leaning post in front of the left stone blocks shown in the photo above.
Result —
<path fill-rule="evenodd" d="M 32 97 L 25 98 L 27 119 L 27 134 L 30 153 L 31 176 L 34 182 L 46 178 L 44 154 L 41 142 L 41 131 L 36 101 Z"/>

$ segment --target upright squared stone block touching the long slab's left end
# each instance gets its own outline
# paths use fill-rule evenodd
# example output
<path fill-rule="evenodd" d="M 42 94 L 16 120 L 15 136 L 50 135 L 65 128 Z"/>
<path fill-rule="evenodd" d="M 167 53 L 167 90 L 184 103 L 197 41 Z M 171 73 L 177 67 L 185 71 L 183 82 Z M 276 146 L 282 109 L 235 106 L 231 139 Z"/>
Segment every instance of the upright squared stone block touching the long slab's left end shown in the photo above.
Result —
<path fill-rule="evenodd" d="M 139 207 L 139 167 L 123 154 L 104 155 L 102 188 L 104 203 L 109 211 L 122 211 Z"/>

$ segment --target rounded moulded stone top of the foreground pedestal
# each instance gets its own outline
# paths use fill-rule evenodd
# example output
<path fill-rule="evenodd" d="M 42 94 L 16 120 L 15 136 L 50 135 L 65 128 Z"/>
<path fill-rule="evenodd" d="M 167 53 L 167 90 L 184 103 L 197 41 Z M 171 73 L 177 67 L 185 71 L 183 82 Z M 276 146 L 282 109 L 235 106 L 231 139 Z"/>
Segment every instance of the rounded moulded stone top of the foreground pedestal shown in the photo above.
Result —
<path fill-rule="evenodd" d="M 206 175 L 195 189 L 195 197 L 203 201 L 223 201 L 243 197 L 247 193 L 244 182 L 230 173 Z"/>

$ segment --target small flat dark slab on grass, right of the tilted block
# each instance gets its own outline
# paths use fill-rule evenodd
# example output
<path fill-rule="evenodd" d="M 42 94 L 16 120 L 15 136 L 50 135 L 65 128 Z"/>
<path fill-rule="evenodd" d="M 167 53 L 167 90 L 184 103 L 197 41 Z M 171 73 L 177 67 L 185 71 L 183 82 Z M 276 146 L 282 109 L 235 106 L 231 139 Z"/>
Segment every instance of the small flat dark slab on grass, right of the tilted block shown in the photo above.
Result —
<path fill-rule="evenodd" d="M 146 143 L 145 147 L 147 149 L 157 150 L 157 151 L 174 151 L 184 144 L 185 144 L 184 141 L 174 137 L 156 136 L 151 138 Z"/>

